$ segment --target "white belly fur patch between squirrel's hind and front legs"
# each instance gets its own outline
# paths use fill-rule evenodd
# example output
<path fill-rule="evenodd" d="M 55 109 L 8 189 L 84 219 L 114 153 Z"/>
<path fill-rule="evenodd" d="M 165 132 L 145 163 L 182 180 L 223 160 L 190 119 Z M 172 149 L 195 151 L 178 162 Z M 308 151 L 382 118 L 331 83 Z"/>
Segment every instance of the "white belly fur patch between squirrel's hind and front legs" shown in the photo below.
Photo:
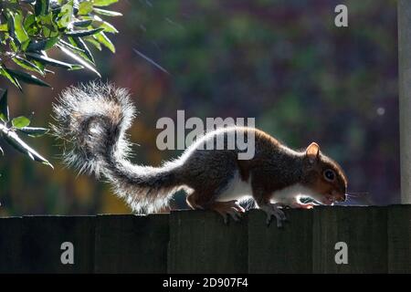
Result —
<path fill-rule="evenodd" d="M 244 182 L 239 173 L 236 172 L 234 178 L 228 183 L 226 190 L 223 193 L 218 195 L 216 199 L 217 202 L 227 202 L 232 200 L 247 200 L 251 197 L 252 190 L 251 190 L 251 183 Z"/>

